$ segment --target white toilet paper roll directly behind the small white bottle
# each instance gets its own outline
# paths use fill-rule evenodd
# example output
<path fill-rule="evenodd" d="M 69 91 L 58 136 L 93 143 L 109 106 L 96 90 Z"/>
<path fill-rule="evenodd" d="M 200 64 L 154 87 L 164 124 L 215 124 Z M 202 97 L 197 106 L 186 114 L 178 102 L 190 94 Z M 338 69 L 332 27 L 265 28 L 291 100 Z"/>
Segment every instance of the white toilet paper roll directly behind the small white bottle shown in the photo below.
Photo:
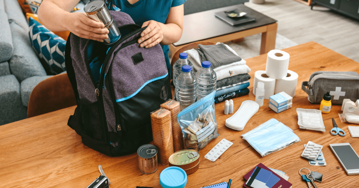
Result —
<path fill-rule="evenodd" d="M 257 83 L 264 83 L 264 99 L 269 99 L 274 95 L 275 79 L 267 76 L 266 71 L 256 71 L 254 73 L 253 94 L 256 95 Z"/>

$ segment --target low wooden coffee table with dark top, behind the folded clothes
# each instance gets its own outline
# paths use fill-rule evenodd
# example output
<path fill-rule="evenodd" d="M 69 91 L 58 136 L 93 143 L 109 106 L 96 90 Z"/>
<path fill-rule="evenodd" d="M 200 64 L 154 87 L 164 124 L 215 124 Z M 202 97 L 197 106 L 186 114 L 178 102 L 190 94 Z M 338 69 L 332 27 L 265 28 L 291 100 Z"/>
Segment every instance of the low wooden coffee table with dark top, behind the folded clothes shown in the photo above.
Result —
<path fill-rule="evenodd" d="M 234 9 L 246 12 L 248 16 L 256 18 L 256 21 L 232 26 L 214 15 L 219 11 Z M 262 33 L 260 54 L 268 53 L 274 49 L 278 25 L 276 22 L 275 19 L 269 18 L 243 4 L 187 14 L 183 17 L 184 25 L 181 39 L 170 44 L 169 49 L 173 54 L 183 45 L 196 41 L 207 40 L 216 43 L 233 40 L 238 42 L 243 37 Z"/>

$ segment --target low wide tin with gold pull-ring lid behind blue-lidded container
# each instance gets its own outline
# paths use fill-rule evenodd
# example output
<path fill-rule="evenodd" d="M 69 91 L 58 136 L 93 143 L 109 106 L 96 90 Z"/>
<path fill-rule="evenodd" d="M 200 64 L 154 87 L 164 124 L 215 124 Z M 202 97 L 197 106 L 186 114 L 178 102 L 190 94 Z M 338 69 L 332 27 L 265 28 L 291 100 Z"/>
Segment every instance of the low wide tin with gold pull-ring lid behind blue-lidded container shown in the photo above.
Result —
<path fill-rule="evenodd" d="M 170 167 L 180 167 L 190 175 L 198 170 L 199 158 L 200 154 L 197 150 L 185 149 L 169 156 L 168 162 Z"/>

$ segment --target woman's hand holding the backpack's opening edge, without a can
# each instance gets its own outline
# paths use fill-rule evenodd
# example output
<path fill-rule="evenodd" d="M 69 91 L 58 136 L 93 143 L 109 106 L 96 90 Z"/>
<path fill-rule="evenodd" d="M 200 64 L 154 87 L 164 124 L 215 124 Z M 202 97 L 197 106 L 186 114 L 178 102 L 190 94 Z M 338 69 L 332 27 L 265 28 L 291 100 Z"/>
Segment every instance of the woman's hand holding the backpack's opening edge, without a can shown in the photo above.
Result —
<path fill-rule="evenodd" d="M 150 48 L 160 43 L 163 39 L 162 29 L 157 21 L 149 20 L 143 23 L 142 27 L 147 26 L 141 33 L 141 38 L 137 41 L 140 47 Z"/>

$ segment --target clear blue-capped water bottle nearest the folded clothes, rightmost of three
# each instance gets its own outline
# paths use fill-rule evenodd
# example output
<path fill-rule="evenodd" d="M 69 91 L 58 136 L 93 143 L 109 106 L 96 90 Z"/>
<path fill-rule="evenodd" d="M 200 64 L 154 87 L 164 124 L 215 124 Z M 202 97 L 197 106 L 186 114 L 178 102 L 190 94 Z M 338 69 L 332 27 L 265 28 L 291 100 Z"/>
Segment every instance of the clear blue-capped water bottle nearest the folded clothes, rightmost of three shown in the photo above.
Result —
<path fill-rule="evenodd" d="M 211 68 L 211 62 L 202 62 L 202 68 L 197 71 L 196 79 L 197 101 L 216 90 L 217 74 Z"/>

